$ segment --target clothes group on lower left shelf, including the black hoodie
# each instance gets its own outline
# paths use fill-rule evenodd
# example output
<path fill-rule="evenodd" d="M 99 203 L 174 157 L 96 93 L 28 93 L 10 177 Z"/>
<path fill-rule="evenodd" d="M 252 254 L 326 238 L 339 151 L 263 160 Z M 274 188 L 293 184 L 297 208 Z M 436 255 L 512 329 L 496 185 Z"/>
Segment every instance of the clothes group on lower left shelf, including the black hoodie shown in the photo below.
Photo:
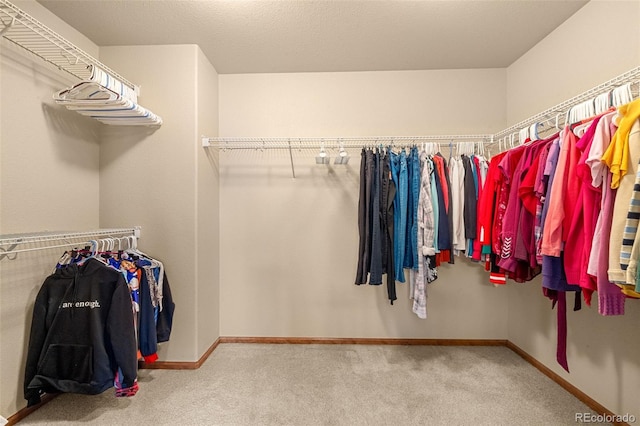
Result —
<path fill-rule="evenodd" d="M 65 252 L 34 309 L 25 398 L 43 392 L 118 397 L 138 391 L 137 361 L 158 359 L 171 335 L 175 304 L 162 262 L 135 248 Z"/>

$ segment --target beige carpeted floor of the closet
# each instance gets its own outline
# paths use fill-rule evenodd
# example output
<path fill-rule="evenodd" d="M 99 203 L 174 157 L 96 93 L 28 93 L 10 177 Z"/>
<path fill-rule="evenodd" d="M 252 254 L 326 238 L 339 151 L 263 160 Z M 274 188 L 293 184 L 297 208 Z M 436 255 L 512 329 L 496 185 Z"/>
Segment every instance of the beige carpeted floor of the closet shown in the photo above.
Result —
<path fill-rule="evenodd" d="M 571 425 L 587 406 L 505 347 L 222 344 L 133 398 L 61 395 L 20 425 Z M 592 423 L 594 424 L 594 423 Z"/>

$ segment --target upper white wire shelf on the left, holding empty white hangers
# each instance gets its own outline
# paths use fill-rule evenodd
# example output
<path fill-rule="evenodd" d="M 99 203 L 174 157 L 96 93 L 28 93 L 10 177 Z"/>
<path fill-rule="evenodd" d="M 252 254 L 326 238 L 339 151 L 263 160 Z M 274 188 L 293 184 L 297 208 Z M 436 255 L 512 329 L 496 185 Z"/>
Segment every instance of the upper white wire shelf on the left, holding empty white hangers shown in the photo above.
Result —
<path fill-rule="evenodd" d="M 5 39 L 74 77 L 88 80 L 91 77 L 90 65 L 95 65 L 131 87 L 136 93 L 140 91 L 139 86 L 131 83 L 8 0 L 0 0 L 0 24 L 2 25 L 0 34 Z"/>

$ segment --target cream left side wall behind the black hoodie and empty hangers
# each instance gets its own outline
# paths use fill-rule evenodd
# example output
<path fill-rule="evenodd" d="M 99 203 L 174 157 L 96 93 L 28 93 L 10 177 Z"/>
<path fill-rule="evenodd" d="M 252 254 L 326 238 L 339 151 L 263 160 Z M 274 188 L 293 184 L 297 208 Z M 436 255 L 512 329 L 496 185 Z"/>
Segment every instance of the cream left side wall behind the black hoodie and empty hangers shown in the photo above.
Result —
<path fill-rule="evenodd" d="M 36 2 L 17 2 L 46 25 L 60 21 Z M 71 27 L 66 37 L 88 40 Z M 93 45 L 97 50 L 97 46 Z M 99 123 L 67 111 L 52 94 L 75 83 L 0 41 L 0 234 L 92 230 L 99 225 Z M 18 249 L 36 245 L 21 245 Z M 62 249 L 0 255 L 0 415 L 25 405 L 33 301 Z"/>

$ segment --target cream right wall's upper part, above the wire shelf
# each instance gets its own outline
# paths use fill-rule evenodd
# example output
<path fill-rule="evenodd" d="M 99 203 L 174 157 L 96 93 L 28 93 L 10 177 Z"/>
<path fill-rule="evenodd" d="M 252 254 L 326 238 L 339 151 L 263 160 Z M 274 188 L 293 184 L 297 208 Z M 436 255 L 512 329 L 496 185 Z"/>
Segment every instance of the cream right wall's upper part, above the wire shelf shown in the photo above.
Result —
<path fill-rule="evenodd" d="M 638 66 L 640 3 L 591 0 L 507 70 L 507 120 L 524 120 Z"/>

